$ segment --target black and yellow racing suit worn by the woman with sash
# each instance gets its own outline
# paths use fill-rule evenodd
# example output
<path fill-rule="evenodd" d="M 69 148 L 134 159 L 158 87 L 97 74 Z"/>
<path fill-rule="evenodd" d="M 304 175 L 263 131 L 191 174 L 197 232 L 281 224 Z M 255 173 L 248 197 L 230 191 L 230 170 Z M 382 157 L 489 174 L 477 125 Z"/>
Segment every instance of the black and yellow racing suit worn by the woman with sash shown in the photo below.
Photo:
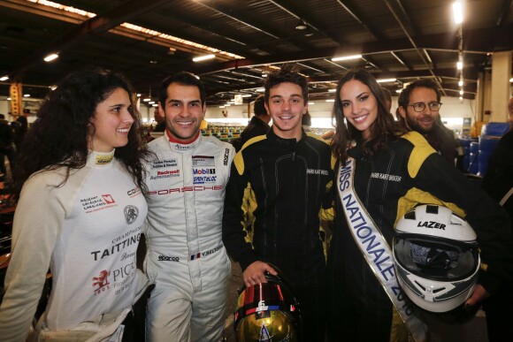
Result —
<path fill-rule="evenodd" d="M 419 203 L 445 205 L 477 232 L 484 264 L 479 283 L 494 293 L 508 277 L 513 248 L 505 242 L 511 235 L 506 213 L 419 133 L 407 133 L 373 156 L 364 156 L 358 145 L 348 153 L 356 161 L 356 194 L 390 247 L 395 223 L 407 211 Z M 348 230 L 338 194 L 335 212 L 327 262 L 331 340 L 402 340 L 402 323 Z"/>

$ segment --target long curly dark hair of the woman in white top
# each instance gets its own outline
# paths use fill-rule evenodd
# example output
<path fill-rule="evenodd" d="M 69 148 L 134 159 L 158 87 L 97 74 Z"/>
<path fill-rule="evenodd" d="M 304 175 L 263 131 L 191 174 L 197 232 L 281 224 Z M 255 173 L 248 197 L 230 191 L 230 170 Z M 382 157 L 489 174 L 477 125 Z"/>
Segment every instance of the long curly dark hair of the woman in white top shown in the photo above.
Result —
<path fill-rule="evenodd" d="M 73 72 L 57 84 L 45 99 L 31 125 L 13 165 L 11 199 L 19 193 L 34 172 L 67 168 L 62 186 L 72 169 L 80 169 L 88 160 L 88 136 L 94 133 L 91 118 L 96 106 L 116 89 L 125 89 L 132 104 L 134 124 L 126 146 L 116 148 L 114 156 L 125 166 L 135 184 L 144 188 L 142 158 L 148 155 L 142 145 L 142 124 L 135 109 L 130 83 L 117 72 L 88 69 Z"/>

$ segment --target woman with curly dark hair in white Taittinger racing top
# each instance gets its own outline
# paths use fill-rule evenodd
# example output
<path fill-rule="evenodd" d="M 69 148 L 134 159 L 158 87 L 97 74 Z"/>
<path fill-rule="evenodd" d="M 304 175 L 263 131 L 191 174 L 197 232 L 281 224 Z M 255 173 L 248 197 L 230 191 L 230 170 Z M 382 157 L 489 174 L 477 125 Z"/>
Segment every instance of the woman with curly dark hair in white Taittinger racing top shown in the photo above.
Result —
<path fill-rule="evenodd" d="M 147 152 L 132 95 L 122 75 L 95 69 L 68 75 L 42 104 L 13 171 L 5 340 L 26 340 L 49 267 L 39 338 L 99 341 L 123 331 L 147 284 L 135 267 Z"/>

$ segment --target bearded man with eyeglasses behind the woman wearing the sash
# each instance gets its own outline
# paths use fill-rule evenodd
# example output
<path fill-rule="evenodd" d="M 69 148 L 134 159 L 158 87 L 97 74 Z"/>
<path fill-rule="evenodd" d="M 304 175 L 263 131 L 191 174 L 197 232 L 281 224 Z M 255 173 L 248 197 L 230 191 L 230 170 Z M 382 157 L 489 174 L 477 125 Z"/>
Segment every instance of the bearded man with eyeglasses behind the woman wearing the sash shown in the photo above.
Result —
<path fill-rule="evenodd" d="M 432 80 L 416 80 L 402 89 L 398 100 L 399 124 L 424 135 L 448 163 L 463 171 L 463 148 L 440 119 L 440 91 Z"/>

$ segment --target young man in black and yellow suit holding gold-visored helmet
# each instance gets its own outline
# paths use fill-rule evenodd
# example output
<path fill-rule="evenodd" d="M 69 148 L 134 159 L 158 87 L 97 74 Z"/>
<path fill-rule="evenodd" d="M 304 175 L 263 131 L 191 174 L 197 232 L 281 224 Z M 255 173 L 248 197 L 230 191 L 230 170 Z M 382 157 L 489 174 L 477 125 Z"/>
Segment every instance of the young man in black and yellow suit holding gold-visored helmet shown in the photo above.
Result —
<path fill-rule="evenodd" d="M 302 341 L 324 341 L 325 255 L 319 212 L 332 206 L 329 145 L 302 130 L 307 80 L 289 66 L 264 84 L 271 130 L 237 153 L 226 186 L 223 241 L 241 264 L 244 285 L 265 283 L 264 272 L 287 278 L 302 313 Z M 248 190 L 249 189 L 249 190 Z M 253 241 L 246 238 L 244 196 L 253 194 Z"/>

